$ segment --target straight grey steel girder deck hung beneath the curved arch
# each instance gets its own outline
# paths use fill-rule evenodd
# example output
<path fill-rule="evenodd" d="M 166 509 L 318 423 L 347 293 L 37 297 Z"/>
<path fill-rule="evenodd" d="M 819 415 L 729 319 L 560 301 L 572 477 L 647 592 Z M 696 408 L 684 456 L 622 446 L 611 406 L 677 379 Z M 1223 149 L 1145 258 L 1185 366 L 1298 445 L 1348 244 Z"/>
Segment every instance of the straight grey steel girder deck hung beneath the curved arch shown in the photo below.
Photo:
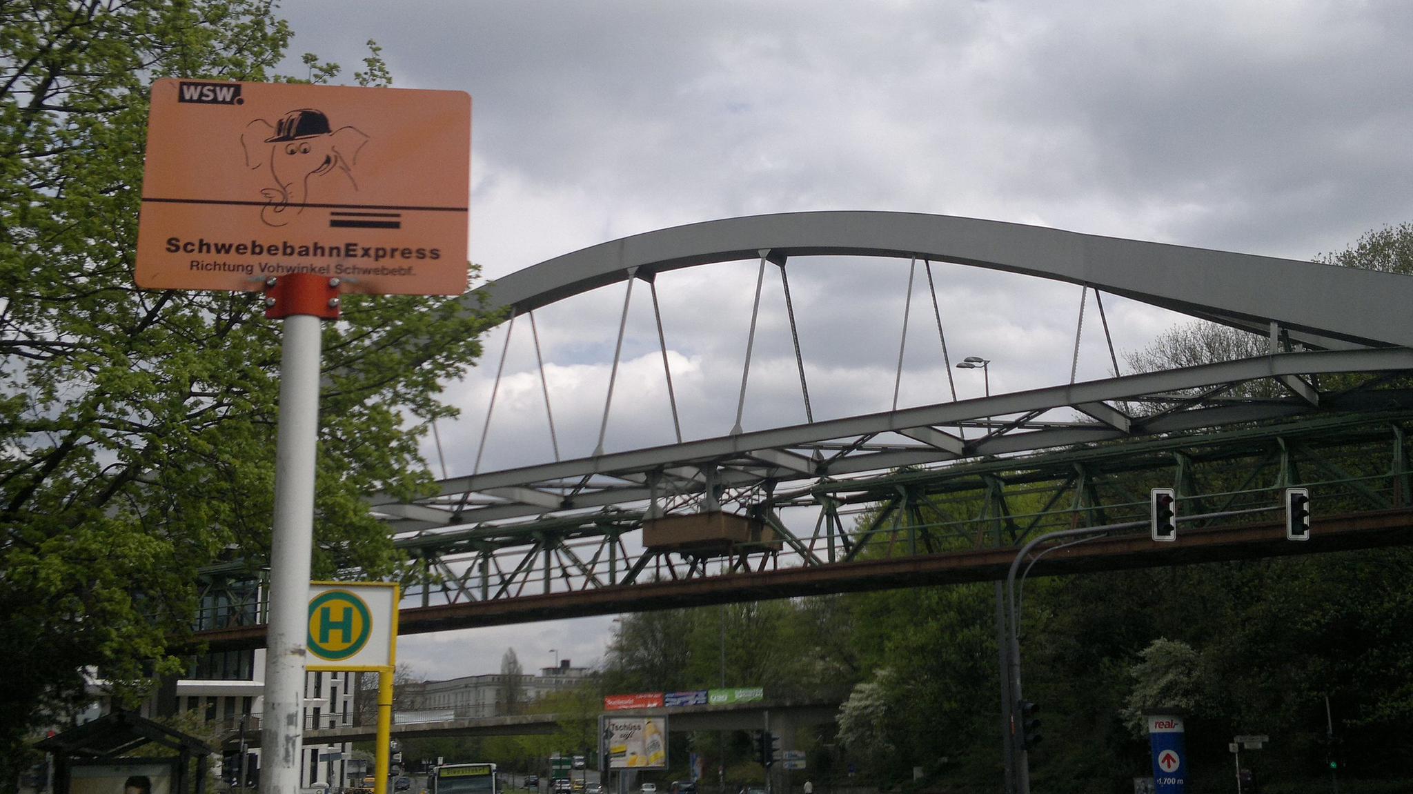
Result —
<path fill-rule="evenodd" d="M 376 513 L 390 519 L 394 533 L 523 519 L 558 510 L 591 510 L 650 499 L 653 489 L 644 483 L 654 473 L 660 480 L 658 487 L 663 479 L 670 479 L 677 493 L 699 493 L 704 487 L 701 478 L 671 475 L 674 469 L 681 468 L 687 469 L 684 475 L 691 475 L 699 466 L 718 466 L 719 482 L 725 486 L 750 486 L 767 479 L 784 483 L 937 463 L 964 456 L 1015 454 L 1128 435 L 1287 417 L 1314 411 L 1316 407 L 1300 397 L 1245 400 L 1229 404 L 1200 404 L 1186 411 L 1143 418 L 1129 417 L 1111 403 L 1262 377 L 1385 370 L 1413 370 L 1413 350 L 1382 348 L 1276 353 L 1034 389 L 451 478 L 441 480 L 439 496 L 428 502 L 401 504 L 379 494 L 372 499 L 372 504 Z M 1041 414 L 1065 407 L 1087 415 L 1098 415 L 1102 421 L 1033 421 L 1012 427 L 1009 432 L 995 431 L 968 441 L 938 431 L 935 427 L 981 424 L 979 420 L 985 417 Z M 831 456 L 811 455 L 815 451 L 822 452 L 828 442 L 886 434 L 926 444 L 845 444 L 844 451 Z M 812 466 L 805 466 L 804 462 Z M 568 483 L 574 485 L 572 493 Z M 472 493 L 496 499 L 466 499 L 466 494 Z M 660 492 L 660 496 L 663 494 L 666 493 Z"/>

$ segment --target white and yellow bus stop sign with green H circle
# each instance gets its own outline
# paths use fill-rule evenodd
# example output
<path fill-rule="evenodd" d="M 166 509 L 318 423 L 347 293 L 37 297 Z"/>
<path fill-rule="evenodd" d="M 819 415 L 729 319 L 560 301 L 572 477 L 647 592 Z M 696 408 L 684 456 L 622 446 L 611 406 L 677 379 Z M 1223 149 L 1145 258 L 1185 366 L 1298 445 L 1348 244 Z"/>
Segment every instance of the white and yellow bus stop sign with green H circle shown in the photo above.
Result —
<path fill-rule="evenodd" d="M 391 667 L 397 589 L 389 582 L 311 582 L 305 670 Z"/>

